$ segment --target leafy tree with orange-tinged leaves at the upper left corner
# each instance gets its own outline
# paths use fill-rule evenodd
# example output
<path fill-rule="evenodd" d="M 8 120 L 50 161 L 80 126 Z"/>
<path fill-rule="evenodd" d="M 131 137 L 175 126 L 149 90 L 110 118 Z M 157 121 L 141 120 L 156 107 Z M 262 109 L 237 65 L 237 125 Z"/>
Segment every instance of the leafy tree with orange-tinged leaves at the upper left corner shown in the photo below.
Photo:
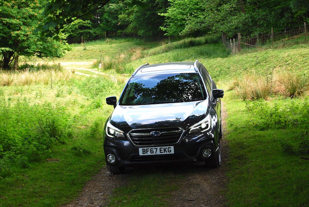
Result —
<path fill-rule="evenodd" d="M 3 68 L 8 68 L 13 59 L 14 68 L 17 68 L 20 55 L 63 56 L 63 51 L 67 49 L 65 43 L 40 37 L 40 33 L 35 32 L 42 21 L 42 3 L 42 0 L 0 2 L 0 53 Z"/>

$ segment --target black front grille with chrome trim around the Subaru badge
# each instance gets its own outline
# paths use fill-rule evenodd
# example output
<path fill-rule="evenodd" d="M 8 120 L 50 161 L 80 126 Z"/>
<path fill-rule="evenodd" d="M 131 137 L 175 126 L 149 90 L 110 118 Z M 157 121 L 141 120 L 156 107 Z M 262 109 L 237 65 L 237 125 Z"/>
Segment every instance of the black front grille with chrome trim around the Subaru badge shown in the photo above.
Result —
<path fill-rule="evenodd" d="M 150 136 L 150 132 L 159 131 L 161 135 Z M 136 129 L 129 132 L 129 138 L 136 146 L 153 146 L 176 144 L 182 135 L 180 127 L 155 128 L 155 129 Z"/>

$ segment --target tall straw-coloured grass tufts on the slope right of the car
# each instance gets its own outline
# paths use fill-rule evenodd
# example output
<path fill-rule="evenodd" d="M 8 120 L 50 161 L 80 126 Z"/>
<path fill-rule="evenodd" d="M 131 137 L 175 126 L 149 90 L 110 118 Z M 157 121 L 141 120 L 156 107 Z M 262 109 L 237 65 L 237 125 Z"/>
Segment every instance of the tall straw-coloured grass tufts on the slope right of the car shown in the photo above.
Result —
<path fill-rule="evenodd" d="M 277 69 L 266 76 L 246 73 L 234 78 L 230 85 L 235 95 L 243 100 L 267 99 L 271 95 L 297 97 L 309 90 L 309 77 L 306 74 Z"/>

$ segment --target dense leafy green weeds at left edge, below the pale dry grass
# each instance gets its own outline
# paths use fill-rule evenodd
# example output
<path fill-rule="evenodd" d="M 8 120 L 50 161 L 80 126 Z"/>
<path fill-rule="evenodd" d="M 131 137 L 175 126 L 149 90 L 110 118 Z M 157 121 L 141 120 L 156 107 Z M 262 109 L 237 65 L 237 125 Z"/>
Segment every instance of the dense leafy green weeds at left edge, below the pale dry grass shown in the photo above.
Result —
<path fill-rule="evenodd" d="M 69 116 L 64 107 L 30 105 L 26 99 L 11 104 L 1 98 L 0 103 L 1 165 L 27 167 L 28 162 L 41 159 L 50 152 L 51 144 L 65 137 Z M 7 174 L 3 169 L 2 177 Z"/>

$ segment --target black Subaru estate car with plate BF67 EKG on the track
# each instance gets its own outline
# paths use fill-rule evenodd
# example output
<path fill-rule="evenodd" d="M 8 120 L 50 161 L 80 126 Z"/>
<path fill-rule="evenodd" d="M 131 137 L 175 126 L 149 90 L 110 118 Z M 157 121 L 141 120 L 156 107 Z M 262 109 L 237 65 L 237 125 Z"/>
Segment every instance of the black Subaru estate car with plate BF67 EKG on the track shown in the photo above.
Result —
<path fill-rule="evenodd" d="M 221 100 L 205 67 L 195 62 L 137 68 L 107 119 L 104 152 L 108 170 L 140 164 L 200 162 L 221 165 Z"/>

